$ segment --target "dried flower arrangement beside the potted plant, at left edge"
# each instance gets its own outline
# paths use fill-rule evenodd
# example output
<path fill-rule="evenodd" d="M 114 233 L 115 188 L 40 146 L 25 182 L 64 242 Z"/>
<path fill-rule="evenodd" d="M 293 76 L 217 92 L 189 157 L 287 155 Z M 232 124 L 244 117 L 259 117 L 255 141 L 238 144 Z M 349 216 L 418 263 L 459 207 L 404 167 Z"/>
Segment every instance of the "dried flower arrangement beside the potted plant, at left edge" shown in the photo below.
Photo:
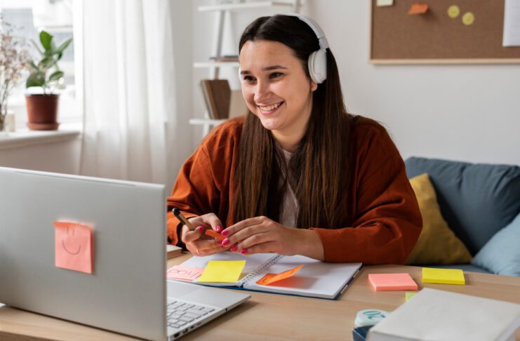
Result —
<path fill-rule="evenodd" d="M 0 131 L 4 131 L 9 93 L 29 67 L 29 48 L 24 39 L 13 35 L 15 27 L 4 22 L 0 13 Z"/>

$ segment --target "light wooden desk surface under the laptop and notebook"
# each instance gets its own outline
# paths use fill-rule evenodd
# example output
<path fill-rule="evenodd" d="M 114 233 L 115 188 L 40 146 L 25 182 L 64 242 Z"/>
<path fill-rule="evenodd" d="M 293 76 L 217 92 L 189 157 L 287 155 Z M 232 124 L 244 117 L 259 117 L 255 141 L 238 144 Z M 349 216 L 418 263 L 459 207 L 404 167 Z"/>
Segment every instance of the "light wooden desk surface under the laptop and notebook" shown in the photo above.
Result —
<path fill-rule="evenodd" d="M 190 255 L 168 260 L 168 267 Z M 361 309 L 392 311 L 405 302 L 404 291 L 375 292 L 368 274 L 408 272 L 420 288 L 465 293 L 520 304 L 520 278 L 466 272 L 465 286 L 422 283 L 420 267 L 379 265 L 364 267 L 340 300 L 256 293 L 218 319 L 189 333 L 182 340 L 351 340 L 354 318 Z M 223 289 L 229 290 L 229 289 Z M 520 340 L 520 329 L 516 330 Z M 134 340 L 76 323 L 53 319 L 11 307 L 0 307 L 2 340 Z"/>

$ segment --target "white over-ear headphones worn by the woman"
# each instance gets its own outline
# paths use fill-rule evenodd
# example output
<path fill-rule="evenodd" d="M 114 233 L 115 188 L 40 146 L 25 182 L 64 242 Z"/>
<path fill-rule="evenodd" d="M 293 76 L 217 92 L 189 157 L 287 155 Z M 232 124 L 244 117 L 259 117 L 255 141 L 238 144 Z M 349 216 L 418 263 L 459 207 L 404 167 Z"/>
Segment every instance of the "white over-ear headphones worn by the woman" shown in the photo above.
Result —
<path fill-rule="evenodd" d="M 328 41 L 325 36 L 324 30 L 319 27 L 318 23 L 312 20 L 305 15 L 301 15 L 298 13 L 284 13 L 284 15 L 292 15 L 296 17 L 302 22 L 305 22 L 309 25 L 310 28 L 316 34 L 316 38 L 319 41 L 319 50 L 314 51 L 309 55 L 309 60 L 307 60 L 307 65 L 309 67 L 309 75 L 311 76 L 312 81 L 314 83 L 323 83 L 327 79 L 327 48 Z"/>

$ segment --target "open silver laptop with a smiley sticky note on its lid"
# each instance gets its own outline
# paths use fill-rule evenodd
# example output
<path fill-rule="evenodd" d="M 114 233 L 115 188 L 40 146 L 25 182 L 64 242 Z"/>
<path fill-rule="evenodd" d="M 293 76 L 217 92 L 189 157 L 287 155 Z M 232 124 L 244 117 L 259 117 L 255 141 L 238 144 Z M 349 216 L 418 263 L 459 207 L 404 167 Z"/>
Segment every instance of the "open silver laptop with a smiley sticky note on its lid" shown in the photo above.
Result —
<path fill-rule="evenodd" d="M 166 281 L 165 241 L 164 185 L 0 167 L 1 303 L 174 340 L 250 297 Z"/>

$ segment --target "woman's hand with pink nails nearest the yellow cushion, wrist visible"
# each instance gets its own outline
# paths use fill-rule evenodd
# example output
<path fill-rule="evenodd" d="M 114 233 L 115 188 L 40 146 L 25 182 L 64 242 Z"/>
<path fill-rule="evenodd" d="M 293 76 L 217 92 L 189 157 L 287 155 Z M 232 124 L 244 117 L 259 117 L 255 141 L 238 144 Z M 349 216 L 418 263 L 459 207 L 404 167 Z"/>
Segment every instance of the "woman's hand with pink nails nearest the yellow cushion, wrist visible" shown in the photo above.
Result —
<path fill-rule="evenodd" d="M 267 217 L 255 217 L 237 222 L 222 231 L 226 239 L 222 246 L 232 246 L 243 254 L 274 252 L 280 255 L 306 255 L 324 260 L 324 248 L 319 235 L 311 229 L 286 227 Z"/>

